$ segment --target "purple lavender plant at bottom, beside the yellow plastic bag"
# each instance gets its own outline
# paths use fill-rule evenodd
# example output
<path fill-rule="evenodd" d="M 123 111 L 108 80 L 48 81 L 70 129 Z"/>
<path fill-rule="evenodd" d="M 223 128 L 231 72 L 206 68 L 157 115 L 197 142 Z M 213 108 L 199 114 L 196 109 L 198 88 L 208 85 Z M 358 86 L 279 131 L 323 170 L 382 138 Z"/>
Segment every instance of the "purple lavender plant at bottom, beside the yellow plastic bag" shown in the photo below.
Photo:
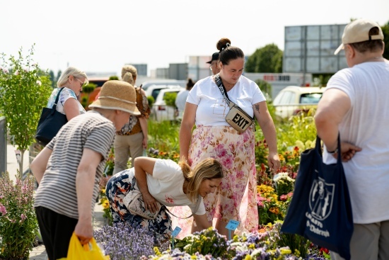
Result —
<path fill-rule="evenodd" d="M 119 222 L 95 231 L 94 237 L 111 260 L 140 259 L 154 254 L 153 234 L 141 227 Z"/>

